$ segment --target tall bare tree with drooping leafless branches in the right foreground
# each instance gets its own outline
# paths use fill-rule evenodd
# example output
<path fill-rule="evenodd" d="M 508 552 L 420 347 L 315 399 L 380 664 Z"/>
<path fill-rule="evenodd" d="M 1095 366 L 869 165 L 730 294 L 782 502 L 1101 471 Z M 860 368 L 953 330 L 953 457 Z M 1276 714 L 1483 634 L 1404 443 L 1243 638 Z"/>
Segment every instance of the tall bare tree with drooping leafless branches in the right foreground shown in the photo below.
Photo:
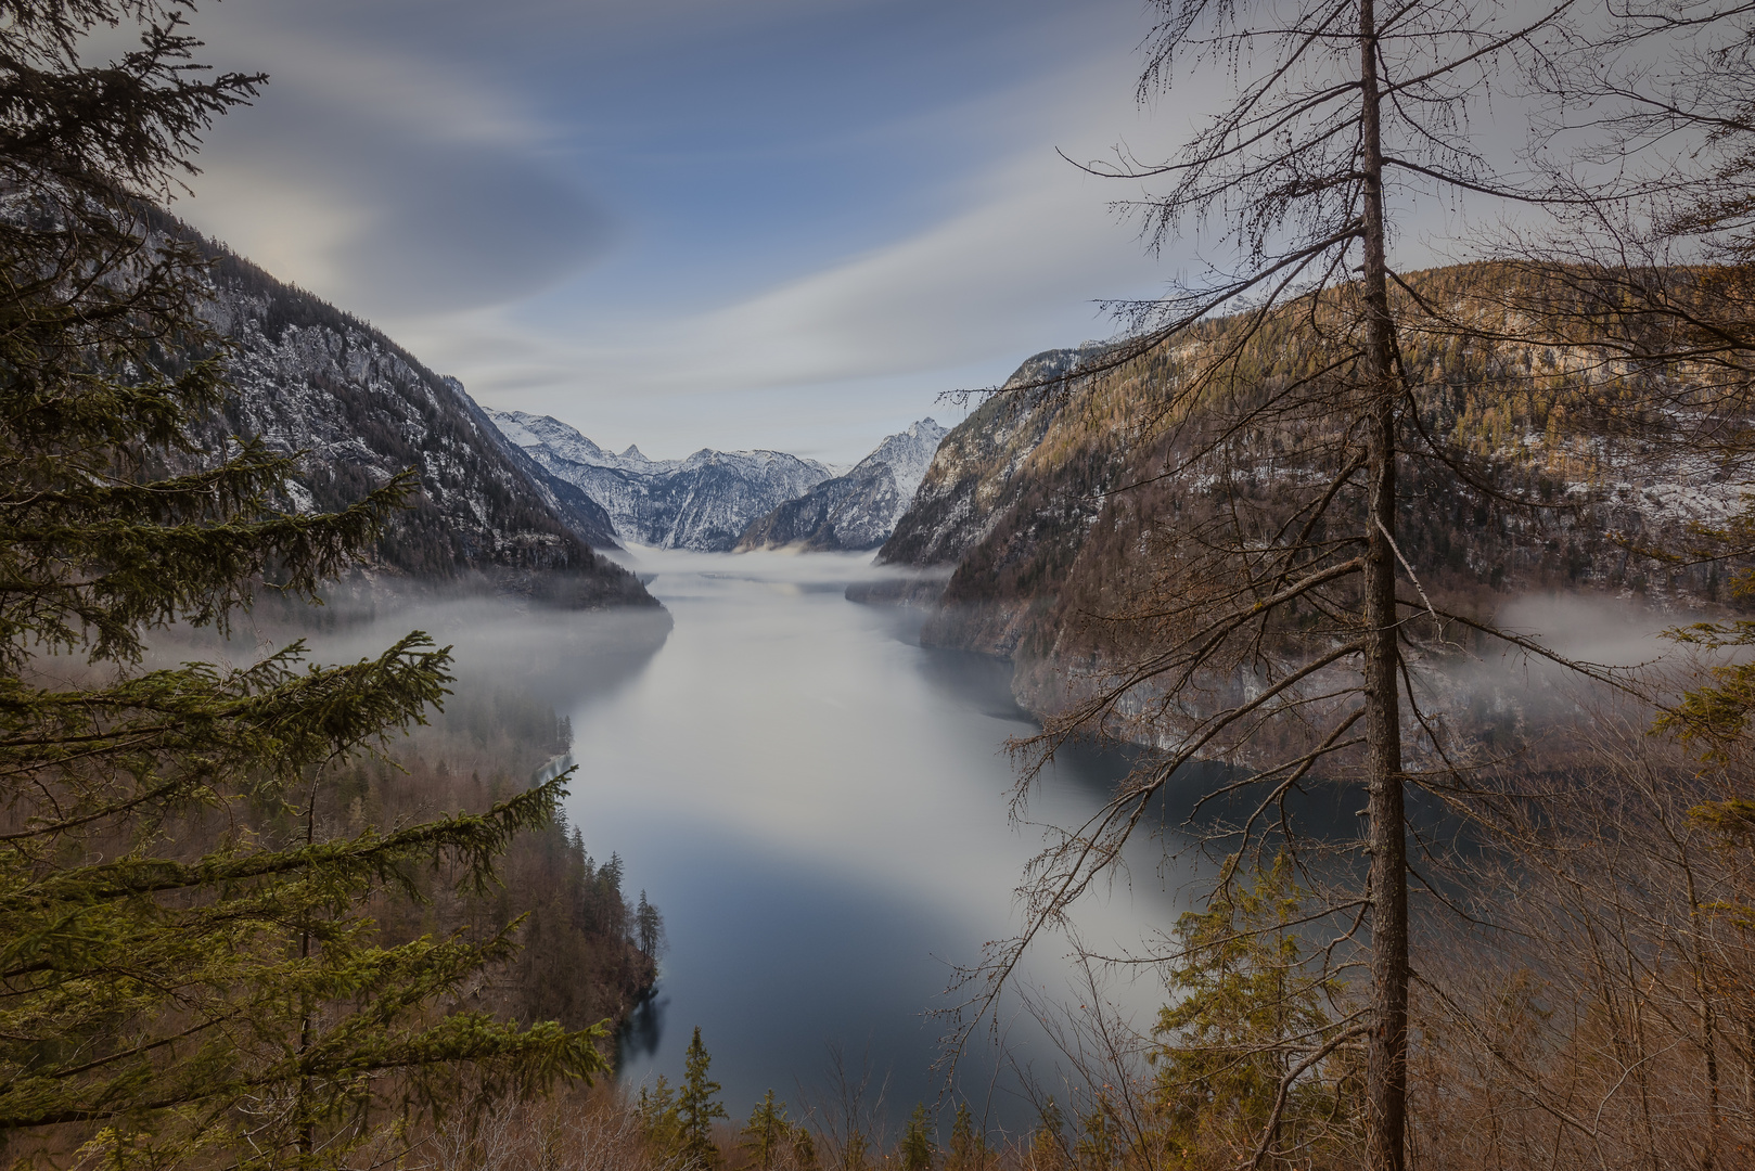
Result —
<path fill-rule="evenodd" d="M 1411 514 L 1434 483 L 1495 509 L 1539 502 L 1434 425 L 1455 372 L 1416 372 L 1404 346 L 1415 325 L 1432 337 L 1451 321 L 1392 267 L 1393 221 L 1416 198 L 1590 200 L 1551 177 L 1518 181 L 1472 146 L 1481 102 L 1499 79 L 1546 65 L 1574 2 L 1406 0 L 1379 12 L 1376 0 L 1155 0 L 1141 100 L 1218 75 L 1223 109 L 1169 162 L 1123 151 L 1086 169 L 1148 191 L 1169 184 L 1127 205 L 1151 248 L 1202 237 L 1225 260 L 1164 298 L 1113 305 L 1128 323 L 1121 341 L 1009 388 L 1071 399 L 1106 377 L 1151 386 L 1150 409 L 1132 420 L 1144 453 L 1130 485 L 1135 579 L 1092 616 L 1118 653 L 1088 699 L 1028 744 L 1020 797 L 1069 737 L 1158 748 L 1035 862 L 1027 927 L 990 955 L 974 1004 L 985 1009 L 1028 941 L 1118 864 L 1151 801 L 1192 762 L 1236 765 L 1197 804 L 1236 811 L 1223 837 L 1232 858 L 1272 837 L 1307 860 L 1290 799 L 1313 774 L 1351 779 L 1365 790 L 1353 857 L 1369 867 L 1351 888 L 1344 866 L 1306 869 L 1330 895 L 1307 927 L 1334 925 L 1325 955 L 1336 971 L 1369 971 L 1374 1171 L 1406 1159 L 1406 790 L 1462 785 L 1464 762 L 1430 709 L 1443 692 L 1434 667 L 1478 637 L 1558 658 L 1467 606 L 1443 606 L 1399 544 L 1420 528 Z M 1227 864 L 1221 883 L 1236 874 Z M 1288 1069 L 1290 1081 L 1311 1064 Z"/>

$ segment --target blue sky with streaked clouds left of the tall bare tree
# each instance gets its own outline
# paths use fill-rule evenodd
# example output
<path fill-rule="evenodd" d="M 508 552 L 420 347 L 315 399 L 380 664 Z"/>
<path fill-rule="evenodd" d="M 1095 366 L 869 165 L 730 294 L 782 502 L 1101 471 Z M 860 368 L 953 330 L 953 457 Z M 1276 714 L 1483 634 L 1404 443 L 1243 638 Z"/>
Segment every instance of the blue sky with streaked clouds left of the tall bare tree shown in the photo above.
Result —
<path fill-rule="evenodd" d="M 1143 0 L 225 0 L 263 70 L 177 214 L 484 406 L 616 449 L 851 462 L 1153 293 L 1079 172 L 1135 104 Z"/>

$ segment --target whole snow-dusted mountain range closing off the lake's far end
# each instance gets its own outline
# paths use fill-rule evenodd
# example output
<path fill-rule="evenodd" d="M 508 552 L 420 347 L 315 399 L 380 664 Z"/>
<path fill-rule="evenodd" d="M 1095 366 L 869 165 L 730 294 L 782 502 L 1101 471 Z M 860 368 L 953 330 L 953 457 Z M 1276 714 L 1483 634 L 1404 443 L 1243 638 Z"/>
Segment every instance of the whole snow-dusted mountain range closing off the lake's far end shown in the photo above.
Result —
<path fill-rule="evenodd" d="M 837 476 L 784 451 L 704 448 L 686 460 L 648 460 L 635 446 L 605 451 L 546 414 L 488 411 L 488 418 L 544 471 L 600 504 L 621 539 L 707 553 L 776 544 L 874 550 L 907 509 L 944 437 L 942 427 L 923 420 Z"/>

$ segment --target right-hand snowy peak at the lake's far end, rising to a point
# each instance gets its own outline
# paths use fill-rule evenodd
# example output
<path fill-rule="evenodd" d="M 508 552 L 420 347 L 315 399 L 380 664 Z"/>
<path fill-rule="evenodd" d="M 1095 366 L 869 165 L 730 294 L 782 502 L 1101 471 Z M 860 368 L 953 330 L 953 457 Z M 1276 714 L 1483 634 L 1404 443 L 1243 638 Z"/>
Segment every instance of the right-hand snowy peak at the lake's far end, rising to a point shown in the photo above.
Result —
<path fill-rule="evenodd" d="M 781 546 L 876 550 L 907 511 L 944 435 L 946 430 L 932 420 L 890 435 L 846 476 L 825 479 L 753 521 L 737 541 L 737 551 Z"/>

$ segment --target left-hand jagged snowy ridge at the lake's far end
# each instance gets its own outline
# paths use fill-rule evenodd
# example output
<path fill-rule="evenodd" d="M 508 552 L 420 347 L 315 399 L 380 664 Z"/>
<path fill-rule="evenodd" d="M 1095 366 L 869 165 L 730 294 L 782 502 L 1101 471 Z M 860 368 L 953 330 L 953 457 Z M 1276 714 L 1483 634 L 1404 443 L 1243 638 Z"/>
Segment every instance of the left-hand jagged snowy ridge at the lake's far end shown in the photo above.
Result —
<path fill-rule="evenodd" d="M 621 455 L 546 414 L 488 411 L 518 448 L 556 479 L 604 506 L 618 535 L 662 550 L 730 551 L 744 528 L 835 471 L 784 451 L 711 451 L 686 460 Z"/>

